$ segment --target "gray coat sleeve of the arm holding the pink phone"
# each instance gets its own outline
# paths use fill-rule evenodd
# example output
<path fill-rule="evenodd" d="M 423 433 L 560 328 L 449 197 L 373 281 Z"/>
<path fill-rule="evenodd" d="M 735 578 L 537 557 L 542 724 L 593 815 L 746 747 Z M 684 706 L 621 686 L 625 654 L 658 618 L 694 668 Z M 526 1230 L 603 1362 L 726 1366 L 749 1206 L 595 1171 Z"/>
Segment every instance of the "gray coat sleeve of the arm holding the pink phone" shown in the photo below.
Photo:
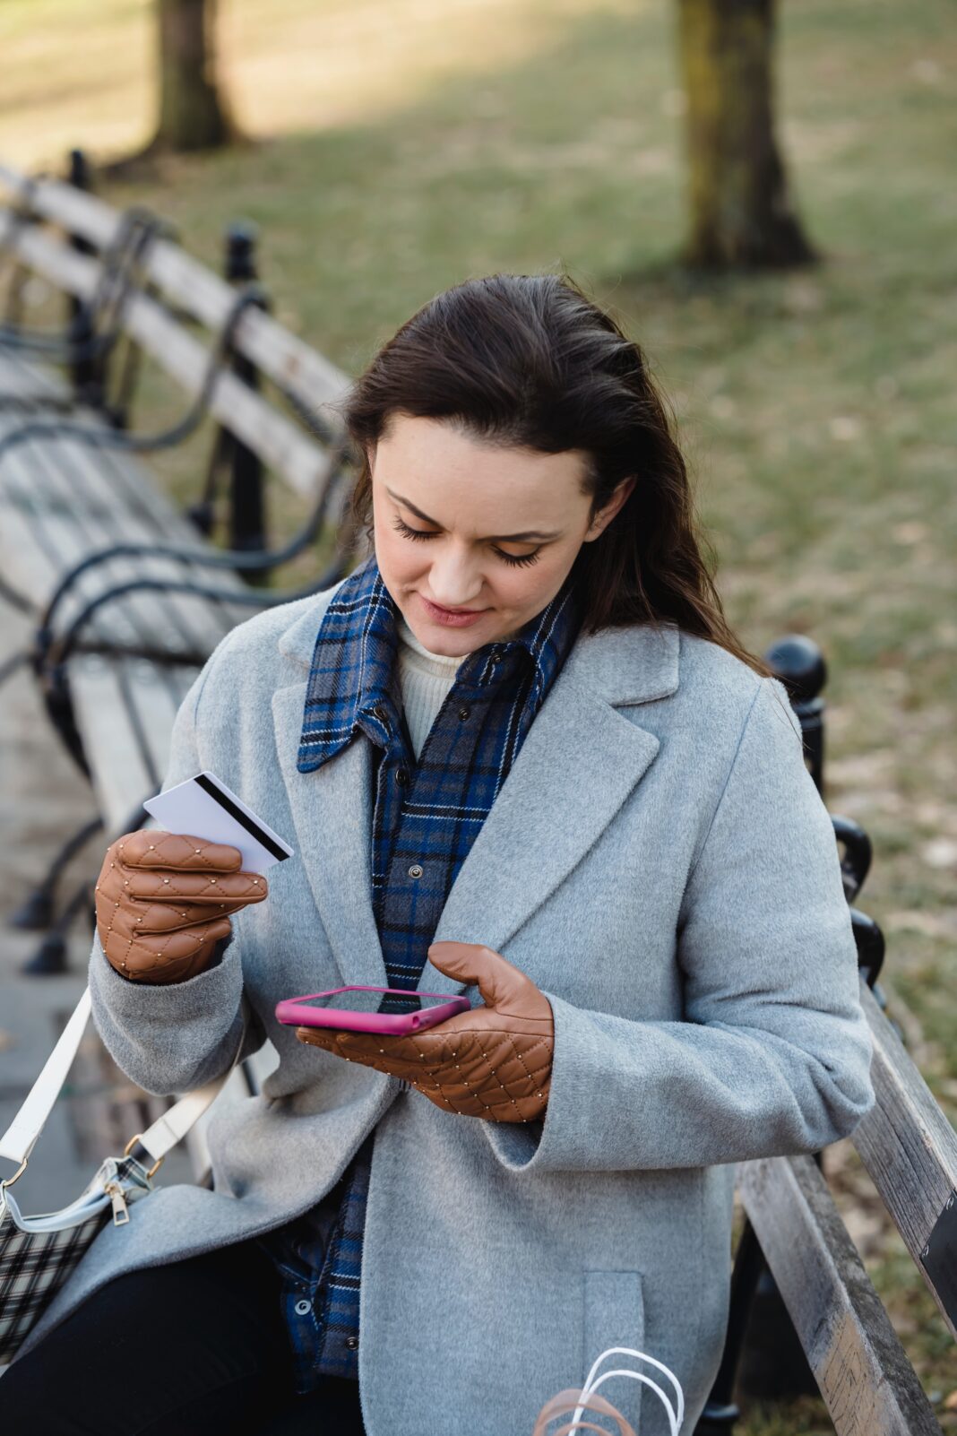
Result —
<path fill-rule="evenodd" d="M 545 1117 L 482 1124 L 506 1167 L 815 1152 L 872 1106 L 834 831 L 773 679 L 758 688 L 686 885 L 676 955 L 684 1021 L 630 1021 L 547 994 L 555 1054 Z"/>

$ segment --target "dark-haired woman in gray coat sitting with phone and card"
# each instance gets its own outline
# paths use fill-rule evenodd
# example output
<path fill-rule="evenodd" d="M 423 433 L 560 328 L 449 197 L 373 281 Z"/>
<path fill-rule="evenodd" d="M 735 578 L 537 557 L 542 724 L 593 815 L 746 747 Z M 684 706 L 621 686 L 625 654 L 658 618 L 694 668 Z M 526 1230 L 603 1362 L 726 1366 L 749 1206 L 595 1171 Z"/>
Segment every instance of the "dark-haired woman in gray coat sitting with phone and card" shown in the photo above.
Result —
<path fill-rule="evenodd" d="M 574 286 L 440 294 L 346 416 L 373 553 L 220 645 L 166 780 L 212 770 L 298 857 L 263 902 L 235 850 L 128 834 L 98 893 L 93 1010 L 131 1078 L 208 1081 L 244 1011 L 242 1050 L 280 1066 L 215 1117 L 212 1192 L 106 1228 L 0 1413 L 527 1436 L 621 1344 L 677 1373 L 690 1433 L 733 1163 L 872 1103 L 796 721 L 722 616 L 640 348 Z M 478 1011 L 412 1057 L 275 1022 L 343 984 Z"/>

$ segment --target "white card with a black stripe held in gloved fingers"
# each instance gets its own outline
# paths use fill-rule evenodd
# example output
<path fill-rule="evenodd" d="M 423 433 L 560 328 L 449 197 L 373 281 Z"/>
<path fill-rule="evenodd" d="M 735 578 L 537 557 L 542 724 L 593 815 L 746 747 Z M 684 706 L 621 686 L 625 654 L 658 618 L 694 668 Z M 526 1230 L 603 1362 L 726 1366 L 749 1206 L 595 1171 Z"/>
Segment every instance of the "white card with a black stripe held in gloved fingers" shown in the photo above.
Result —
<path fill-rule="evenodd" d="M 264 873 L 274 863 L 296 856 L 288 843 L 212 773 L 197 773 L 195 778 L 149 798 L 143 807 L 168 833 L 188 833 L 208 843 L 238 847 L 244 872 Z"/>

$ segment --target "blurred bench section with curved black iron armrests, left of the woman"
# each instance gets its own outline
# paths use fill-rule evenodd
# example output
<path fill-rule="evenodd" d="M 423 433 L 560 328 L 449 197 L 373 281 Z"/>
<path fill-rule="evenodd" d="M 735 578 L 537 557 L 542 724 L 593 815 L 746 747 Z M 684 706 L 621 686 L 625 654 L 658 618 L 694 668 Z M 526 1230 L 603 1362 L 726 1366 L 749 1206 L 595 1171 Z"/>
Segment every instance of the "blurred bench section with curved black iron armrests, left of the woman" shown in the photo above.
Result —
<path fill-rule="evenodd" d="M 175 711 L 212 648 L 258 607 L 293 596 L 240 574 L 261 577 L 336 540 L 352 465 L 329 405 L 347 381 L 264 310 L 242 233 L 232 236 L 227 283 L 143 211 L 122 215 L 75 185 L 0 165 L 3 190 L 0 260 L 6 251 L 16 261 L 14 307 L 32 273 L 69 296 L 70 322 L 43 332 L 16 313 L 0 327 L 0 600 L 34 619 L 36 643 L 22 656 L 113 836 L 142 821 L 142 801 L 166 767 Z M 184 416 L 152 435 L 128 426 L 131 372 L 142 356 L 184 393 Z M 204 421 L 214 425 L 212 454 L 188 517 L 145 460 Z M 308 510 L 298 533 L 271 551 L 264 471 Z M 228 550 L 205 537 L 217 484 L 231 490 Z M 301 592 L 344 572 L 336 547 Z M 23 925 L 49 920 L 60 866 L 27 903 Z M 63 922 L 70 916 L 67 905 Z M 44 952 L 40 966 L 56 965 L 60 932 Z"/>

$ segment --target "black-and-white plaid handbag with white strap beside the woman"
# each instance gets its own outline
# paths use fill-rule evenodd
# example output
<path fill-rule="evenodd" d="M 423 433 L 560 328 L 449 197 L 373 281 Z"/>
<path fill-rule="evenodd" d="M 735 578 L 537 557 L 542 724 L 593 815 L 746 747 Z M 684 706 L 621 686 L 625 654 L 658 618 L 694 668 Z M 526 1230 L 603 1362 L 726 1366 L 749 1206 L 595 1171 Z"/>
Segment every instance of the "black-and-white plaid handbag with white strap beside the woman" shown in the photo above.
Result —
<path fill-rule="evenodd" d="M 89 1014 L 88 988 L 26 1101 L 0 1137 L 0 1156 L 19 1165 L 11 1178 L 0 1182 L 0 1364 L 13 1360 L 20 1343 L 109 1221 L 110 1212 L 116 1226 L 129 1222 L 129 1205 L 152 1192 L 152 1179 L 166 1152 L 185 1137 L 230 1076 L 224 1073 L 182 1097 L 146 1132 L 131 1137 L 123 1156 L 108 1157 L 70 1206 L 43 1216 L 23 1216 L 10 1188 L 26 1170 L 30 1152 L 80 1045 Z"/>

